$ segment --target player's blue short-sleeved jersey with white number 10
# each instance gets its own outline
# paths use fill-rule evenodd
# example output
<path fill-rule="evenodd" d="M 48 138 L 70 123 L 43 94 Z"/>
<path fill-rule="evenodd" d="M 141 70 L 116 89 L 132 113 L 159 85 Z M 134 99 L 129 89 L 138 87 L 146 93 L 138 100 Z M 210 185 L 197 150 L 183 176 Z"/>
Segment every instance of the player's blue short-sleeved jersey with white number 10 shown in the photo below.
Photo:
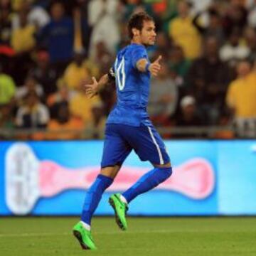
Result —
<path fill-rule="evenodd" d="M 107 118 L 107 124 L 150 125 L 146 106 L 149 101 L 150 73 L 140 72 L 136 63 L 146 58 L 146 48 L 132 43 L 117 53 L 112 67 L 117 88 L 117 103 Z"/>

